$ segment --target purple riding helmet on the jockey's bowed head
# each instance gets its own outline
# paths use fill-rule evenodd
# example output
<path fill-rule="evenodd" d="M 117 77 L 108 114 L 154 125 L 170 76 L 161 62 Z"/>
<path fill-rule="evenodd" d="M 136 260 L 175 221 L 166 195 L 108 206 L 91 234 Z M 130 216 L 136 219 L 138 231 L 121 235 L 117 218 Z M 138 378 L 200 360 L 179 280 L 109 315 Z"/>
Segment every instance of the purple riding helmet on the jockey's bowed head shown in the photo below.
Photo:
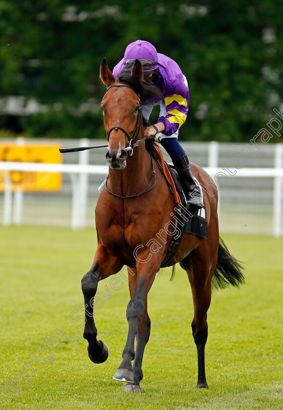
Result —
<path fill-rule="evenodd" d="M 136 59 L 140 60 L 143 71 L 154 71 L 158 67 L 156 48 L 148 41 L 137 40 L 127 46 L 123 60 L 125 69 L 132 68 Z"/>

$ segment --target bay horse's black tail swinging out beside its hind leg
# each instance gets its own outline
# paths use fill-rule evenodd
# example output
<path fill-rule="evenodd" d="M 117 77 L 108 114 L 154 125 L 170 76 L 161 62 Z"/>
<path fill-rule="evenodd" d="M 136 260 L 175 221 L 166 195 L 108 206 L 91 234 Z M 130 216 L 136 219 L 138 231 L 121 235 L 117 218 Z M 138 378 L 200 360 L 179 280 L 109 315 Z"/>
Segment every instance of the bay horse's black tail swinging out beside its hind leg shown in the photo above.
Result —
<path fill-rule="evenodd" d="M 245 283 L 240 262 L 230 254 L 223 240 L 219 238 L 217 265 L 212 278 L 212 287 L 224 289 Z"/>

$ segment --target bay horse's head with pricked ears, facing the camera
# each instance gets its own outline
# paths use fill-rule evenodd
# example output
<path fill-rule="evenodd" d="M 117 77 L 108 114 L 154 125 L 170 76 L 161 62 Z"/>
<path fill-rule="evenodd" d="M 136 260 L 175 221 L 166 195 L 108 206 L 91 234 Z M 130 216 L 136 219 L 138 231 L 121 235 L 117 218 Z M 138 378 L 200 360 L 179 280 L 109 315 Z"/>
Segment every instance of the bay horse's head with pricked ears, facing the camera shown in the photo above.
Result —
<path fill-rule="evenodd" d="M 136 81 L 143 81 L 139 60 L 136 60 L 131 75 Z M 126 167 L 128 156 L 126 147 L 142 128 L 140 99 L 130 85 L 123 85 L 114 79 L 105 59 L 100 65 L 100 78 L 107 86 L 101 102 L 109 142 L 106 159 L 112 169 L 122 170 Z"/>

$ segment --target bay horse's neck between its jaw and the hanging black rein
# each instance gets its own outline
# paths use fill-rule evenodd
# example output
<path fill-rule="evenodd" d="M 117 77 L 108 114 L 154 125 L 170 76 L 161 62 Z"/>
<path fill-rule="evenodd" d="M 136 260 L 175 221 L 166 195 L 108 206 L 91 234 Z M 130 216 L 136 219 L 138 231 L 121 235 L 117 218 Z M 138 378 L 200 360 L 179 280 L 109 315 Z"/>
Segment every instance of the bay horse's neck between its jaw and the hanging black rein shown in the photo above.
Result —
<path fill-rule="evenodd" d="M 134 148 L 128 156 L 127 166 L 122 171 L 109 168 L 109 188 L 121 196 L 131 196 L 142 192 L 152 178 L 152 161 L 145 143 Z"/>

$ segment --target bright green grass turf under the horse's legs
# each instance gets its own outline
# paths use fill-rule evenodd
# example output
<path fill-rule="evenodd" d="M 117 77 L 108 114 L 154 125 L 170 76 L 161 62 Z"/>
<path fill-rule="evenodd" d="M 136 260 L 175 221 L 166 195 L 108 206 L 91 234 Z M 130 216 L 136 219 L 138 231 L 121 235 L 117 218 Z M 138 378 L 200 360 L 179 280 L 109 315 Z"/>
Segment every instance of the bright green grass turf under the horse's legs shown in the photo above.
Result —
<path fill-rule="evenodd" d="M 95 315 L 98 335 L 109 348 L 104 364 L 89 361 L 83 329 L 77 328 L 82 320 L 69 320 L 73 311 L 74 320 L 83 314 L 80 281 L 92 264 L 95 238 L 92 229 L 0 226 L 1 409 L 283 408 L 283 238 L 223 235 L 231 253 L 246 264 L 246 285 L 213 294 L 206 347 L 209 390 L 195 388 L 186 273 L 177 266 L 173 282 L 171 269 L 158 273 L 149 294 L 152 332 L 139 395 L 112 380 L 127 336 L 126 280 L 119 290 L 109 287 L 111 297 L 102 296 L 104 305 Z M 99 290 L 107 293 L 106 285 L 109 279 Z M 69 340 L 56 334 L 62 328 Z M 64 342 L 54 342 L 58 351 L 44 340 L 54 336 Z M 26 366 L 34 358 L 43 363 L 31 363 L 36 373 Z"/>

